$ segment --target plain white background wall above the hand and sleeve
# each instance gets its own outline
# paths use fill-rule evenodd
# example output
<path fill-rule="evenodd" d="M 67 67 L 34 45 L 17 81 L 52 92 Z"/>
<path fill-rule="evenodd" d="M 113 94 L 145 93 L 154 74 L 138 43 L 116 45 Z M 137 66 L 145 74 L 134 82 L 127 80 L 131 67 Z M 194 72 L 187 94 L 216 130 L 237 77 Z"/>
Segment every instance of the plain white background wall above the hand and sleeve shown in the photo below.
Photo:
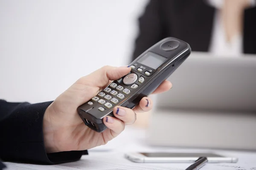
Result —
<path fill-rule="evenodd" d="M 54 100 L 103 65 L 129 64 L 147 0 L 0 0 L 0 99 Z"/>

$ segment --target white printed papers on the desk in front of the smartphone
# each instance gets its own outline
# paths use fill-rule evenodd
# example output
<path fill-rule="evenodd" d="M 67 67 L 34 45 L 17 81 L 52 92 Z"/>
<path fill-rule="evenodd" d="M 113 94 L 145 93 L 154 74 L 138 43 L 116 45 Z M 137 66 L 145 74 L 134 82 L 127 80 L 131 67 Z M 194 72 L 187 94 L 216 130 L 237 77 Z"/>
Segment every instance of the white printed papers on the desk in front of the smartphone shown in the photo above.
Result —
<path fill-rule="evenodd" d="M 125 159 L 124 153 L 90 152 L 79 161 L 65 164 L 5 164 L 7 170 L 184 170 L 192 163 L 135 163 Z M 256 163 L 207 163 L 200 170 L 256 170 Z"/>

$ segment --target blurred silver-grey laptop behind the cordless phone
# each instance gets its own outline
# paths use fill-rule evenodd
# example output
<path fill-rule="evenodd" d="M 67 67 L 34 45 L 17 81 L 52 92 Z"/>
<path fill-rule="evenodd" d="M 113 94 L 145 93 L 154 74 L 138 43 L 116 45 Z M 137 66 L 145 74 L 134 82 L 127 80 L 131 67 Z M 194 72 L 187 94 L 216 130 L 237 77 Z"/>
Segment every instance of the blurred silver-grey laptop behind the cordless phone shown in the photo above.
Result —
<path fill-rule="evenodd" d="M 256 150 L 256 55 L 192 52 L 154 98 L 147 132 L 157 146 Z"/>

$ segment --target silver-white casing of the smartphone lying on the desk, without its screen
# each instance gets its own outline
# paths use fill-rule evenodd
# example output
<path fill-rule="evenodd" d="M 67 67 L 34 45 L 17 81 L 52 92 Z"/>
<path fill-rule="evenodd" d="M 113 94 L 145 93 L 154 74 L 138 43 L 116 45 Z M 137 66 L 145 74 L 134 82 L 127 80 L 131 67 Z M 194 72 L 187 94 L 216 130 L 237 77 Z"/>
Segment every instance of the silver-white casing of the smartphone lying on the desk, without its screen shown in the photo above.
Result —
<path fill-rule="evenodd" d="M 219 155 L 219 154 L 216 154 Z M 200 156 L 171 156 L 171 157 L 148 157 L 142 153 L 126 153 L 125 158 L 133 162 L 138 163 L 191 163 L 195 162 Z M 207 156 L 209 163 L 236 163 L 238 158 L 225 157 L 219 155 L 219 157 Z"/>

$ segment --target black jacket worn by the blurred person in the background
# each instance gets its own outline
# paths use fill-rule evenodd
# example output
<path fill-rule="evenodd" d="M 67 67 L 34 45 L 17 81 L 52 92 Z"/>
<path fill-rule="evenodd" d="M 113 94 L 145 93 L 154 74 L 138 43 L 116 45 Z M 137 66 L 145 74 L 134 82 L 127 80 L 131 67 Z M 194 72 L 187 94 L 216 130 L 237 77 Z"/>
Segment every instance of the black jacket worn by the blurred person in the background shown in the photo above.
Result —
<path fill-rule="evenodd" d="M 139 18 L 133 60 L 165 37 L 188 42 L 192 51 L 208 51 L 215 9 L 205 0 L 150 0 Z M 256 54 L 256 7 L 244 11 L 243 52 Z"/>

